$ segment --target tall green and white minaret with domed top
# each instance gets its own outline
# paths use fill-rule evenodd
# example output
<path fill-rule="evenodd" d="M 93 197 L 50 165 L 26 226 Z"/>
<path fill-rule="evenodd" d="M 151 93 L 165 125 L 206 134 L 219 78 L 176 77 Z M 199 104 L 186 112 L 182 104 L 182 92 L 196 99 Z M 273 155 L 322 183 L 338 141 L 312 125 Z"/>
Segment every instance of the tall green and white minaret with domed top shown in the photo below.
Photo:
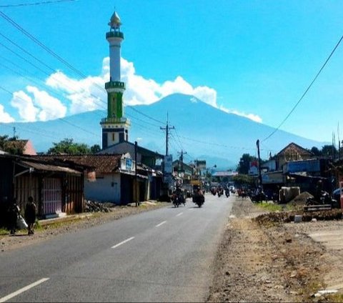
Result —
<path fill-rule="evenodd" d="M 125 84 L 120 77 L 120 48 L 124 34 L 120 31 L 121 21 L 114 11 L 109 21 L 106 40 L 109 41 L 109 82 L 107 91 L 107 117 L 101 119 L 102 149 L 128 140 L 129 119 L 124 117 L 123 94 Z"/>

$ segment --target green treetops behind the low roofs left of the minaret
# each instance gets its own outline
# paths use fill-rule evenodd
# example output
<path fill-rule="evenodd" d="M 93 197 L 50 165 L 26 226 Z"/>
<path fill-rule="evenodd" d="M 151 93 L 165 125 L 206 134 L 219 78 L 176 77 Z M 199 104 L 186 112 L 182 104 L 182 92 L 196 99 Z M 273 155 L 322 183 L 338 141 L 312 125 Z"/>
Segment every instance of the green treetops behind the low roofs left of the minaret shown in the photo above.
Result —
<path fill-rule="evenodd" d="M 98 144 L 89 147 L 87 144 L 74 143 L 73 139 L 68 138 L 53 144 L 47 154 L 94 154 L 101 150 Z"/>

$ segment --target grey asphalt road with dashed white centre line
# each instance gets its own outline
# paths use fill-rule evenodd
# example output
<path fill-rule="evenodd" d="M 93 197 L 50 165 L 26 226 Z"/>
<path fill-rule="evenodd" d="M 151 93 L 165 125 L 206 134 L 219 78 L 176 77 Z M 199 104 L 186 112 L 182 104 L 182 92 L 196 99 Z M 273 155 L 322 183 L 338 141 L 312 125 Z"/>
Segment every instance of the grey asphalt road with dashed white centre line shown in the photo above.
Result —
<path fill-rule="evenodd" d="M 0 255 L 0 302 L 203 302 L 234 197 L 165 207 Z"/>

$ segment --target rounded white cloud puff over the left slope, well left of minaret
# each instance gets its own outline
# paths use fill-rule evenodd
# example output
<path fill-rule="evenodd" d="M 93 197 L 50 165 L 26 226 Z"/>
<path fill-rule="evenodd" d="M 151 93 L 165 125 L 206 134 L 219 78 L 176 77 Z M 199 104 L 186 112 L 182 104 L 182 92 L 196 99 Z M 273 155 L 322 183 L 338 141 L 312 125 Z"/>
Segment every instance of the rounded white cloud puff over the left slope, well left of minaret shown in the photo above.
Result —
<path fill-rule="evenodd" d="M 46 91 L 39 91 L 34 86 L 26 86 L 26 91 L 16 91 L 11 100 L 24 121 L 47 121 L 66 115 L 66 106 Z"/>

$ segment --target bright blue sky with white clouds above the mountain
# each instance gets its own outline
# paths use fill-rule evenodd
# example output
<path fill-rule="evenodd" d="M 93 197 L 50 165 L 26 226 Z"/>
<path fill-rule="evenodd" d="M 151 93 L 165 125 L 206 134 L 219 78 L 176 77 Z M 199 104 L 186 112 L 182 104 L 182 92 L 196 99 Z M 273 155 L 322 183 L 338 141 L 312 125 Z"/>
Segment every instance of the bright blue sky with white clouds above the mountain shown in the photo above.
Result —
<path fill-rule="evenodd" d="M 114 11 L 124 104 L 192 94 L 308 139 L 343 139 L 341 0 L 0 0 L 0 134 L 11 121 L 106 109 Z"/>

